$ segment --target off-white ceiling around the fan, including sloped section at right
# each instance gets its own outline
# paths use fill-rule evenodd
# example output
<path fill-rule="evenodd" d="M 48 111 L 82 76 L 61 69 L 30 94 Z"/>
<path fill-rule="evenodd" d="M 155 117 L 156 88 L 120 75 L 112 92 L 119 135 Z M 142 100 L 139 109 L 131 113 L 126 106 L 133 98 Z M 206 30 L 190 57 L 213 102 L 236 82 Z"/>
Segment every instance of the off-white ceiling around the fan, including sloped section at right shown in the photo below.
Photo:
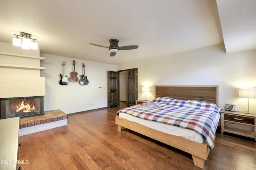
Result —
<path fill-rule="evenodd" d="M 21 31 L 40 52 L 118 64 L 220 43 L 256 49 L 255 0 L 0 0 L 0 41 Z M 223 34 L 223 35 L 222 35 Z M 139 45 L 110 57 L 109 39 Z"/>

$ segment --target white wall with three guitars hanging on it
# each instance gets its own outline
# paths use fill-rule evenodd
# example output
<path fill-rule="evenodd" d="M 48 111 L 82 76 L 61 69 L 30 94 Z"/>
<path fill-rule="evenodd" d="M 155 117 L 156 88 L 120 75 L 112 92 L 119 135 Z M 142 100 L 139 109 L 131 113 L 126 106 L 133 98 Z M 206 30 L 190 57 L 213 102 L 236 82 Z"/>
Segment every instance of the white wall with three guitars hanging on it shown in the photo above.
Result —
<path fill-rule="evenodd" d="M 69 114 L 108 106 L 107 71 L 117 71 L 116 65 L 48 54 L 41 54 L 40 57 L 45 58 L 45 61 L 41 63 L 45 70 L 40 72 L 40 76 L 46 78 L 44 111 L 60 109 Z M 65 86 L 59 84 L 62 62 L 66 61 L 65 74 L 70 77 L 70 72 L 73 71 L 73 60 L 76 61 L 79 79 L 82 74 L 82 63 L 85 64 L 88 85 L 81 86 L 78 82 L 69 82 Z M 99 90 L 99 87 L 102 89 Z"/>

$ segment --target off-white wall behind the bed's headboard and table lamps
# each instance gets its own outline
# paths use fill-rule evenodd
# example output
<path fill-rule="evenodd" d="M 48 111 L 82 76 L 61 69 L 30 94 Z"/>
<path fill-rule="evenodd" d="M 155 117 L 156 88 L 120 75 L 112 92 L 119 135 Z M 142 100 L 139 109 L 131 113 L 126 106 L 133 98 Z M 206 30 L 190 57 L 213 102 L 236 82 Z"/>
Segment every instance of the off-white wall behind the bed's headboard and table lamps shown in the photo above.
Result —
<path fill-rule="evenodd" d="M 218 85 L 221 107 L 236 104 L 236 110 L 247 111 L 238 88 L 256 87 L 256 50 L 226 54 L 224 44 L 118 65 L 118 70 L 129 68 L 138 68 L 138 89 L 151 87 L 149 100 L 155 85 Z M 140 90 L 138 99 L 144 99 Z M 256 99 L 250 99 L 250 111 L 256 113 Z"/>

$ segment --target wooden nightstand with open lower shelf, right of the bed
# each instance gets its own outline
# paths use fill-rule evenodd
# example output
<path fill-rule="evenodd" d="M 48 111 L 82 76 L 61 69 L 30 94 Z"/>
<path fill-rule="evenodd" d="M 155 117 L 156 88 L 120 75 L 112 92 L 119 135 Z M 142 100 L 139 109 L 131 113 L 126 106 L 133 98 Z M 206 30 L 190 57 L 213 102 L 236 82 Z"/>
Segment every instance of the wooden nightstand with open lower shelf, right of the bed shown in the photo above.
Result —
<path fill-rule="evenodd" d="M 224 132 L 233 133 L 245 137 L 254 138 L 256 141 L 256 114 L 244 112 L 220 110 L 221 113 L 221 134 Z"/>

